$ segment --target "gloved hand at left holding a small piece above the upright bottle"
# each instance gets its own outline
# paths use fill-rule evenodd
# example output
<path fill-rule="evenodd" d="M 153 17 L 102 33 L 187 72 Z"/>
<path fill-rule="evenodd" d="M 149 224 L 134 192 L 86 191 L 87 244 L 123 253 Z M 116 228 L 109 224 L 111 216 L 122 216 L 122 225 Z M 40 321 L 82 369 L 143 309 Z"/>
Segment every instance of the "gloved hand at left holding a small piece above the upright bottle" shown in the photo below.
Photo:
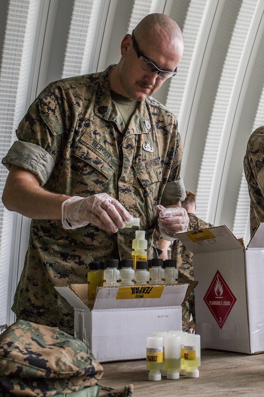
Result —
<path fill-rule="evenodd" d="M 116 233 L 125 226 L 132 216 L 107 193 L 89 197 L 73 196 L 62 203 L 62 226 L 77 229 L 92 223 L 107 232 Z"/>

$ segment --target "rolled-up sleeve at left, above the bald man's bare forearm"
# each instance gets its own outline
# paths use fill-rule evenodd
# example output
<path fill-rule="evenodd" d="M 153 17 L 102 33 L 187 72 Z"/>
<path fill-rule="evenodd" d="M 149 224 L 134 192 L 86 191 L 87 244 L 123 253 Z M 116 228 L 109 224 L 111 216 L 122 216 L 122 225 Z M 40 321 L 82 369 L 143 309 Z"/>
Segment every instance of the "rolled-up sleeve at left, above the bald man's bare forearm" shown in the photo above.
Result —
<path fill-rule="evenodd" d="M 8 169 L 14 164 L 35 174 L 41 186 L 45 185 L 55 165 L 51 155 L 41 146 L 21 140 L 14 142 L 2 163 Z"/>

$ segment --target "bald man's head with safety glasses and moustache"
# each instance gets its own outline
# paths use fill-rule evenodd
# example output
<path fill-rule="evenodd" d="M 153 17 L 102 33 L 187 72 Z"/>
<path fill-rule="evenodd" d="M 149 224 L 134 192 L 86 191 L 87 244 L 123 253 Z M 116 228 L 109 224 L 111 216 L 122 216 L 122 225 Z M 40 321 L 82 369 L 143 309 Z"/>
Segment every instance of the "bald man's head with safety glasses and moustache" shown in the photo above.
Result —
<path fill-rule="evenodd" d="M 160 71 L 169 71 L 169 77 L 177 71 L 183 35 L 174 19 L 159 13 L 143 18 L 132 35 L 126 34 L 121 42 L 121 60 L 110 73 L 110 87 L 124 97 L 141 101 L 168 78 L 162 78 Z"/>

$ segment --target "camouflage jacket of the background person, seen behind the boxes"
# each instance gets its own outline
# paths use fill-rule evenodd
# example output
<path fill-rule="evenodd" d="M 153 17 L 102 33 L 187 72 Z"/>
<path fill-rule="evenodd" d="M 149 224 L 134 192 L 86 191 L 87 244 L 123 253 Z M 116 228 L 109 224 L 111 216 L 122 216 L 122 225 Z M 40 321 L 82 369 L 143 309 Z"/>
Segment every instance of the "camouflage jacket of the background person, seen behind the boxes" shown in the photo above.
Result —
<path fill-rule="evenodd" d="M 213 224 L 205 222 L 204 220 L 197 217 L 195 214 L 188 215 L 190 218 L 188 224 L 188 232 L 213 227 Z M 179 271 L 179 278 L 183 278 L 185 281 L 193 280 L 192 258 L 193 253 L 185 248 L 180 240 L 176 239 L 172 245 L 172 259 L 176 260 L 176 267 Z"/>

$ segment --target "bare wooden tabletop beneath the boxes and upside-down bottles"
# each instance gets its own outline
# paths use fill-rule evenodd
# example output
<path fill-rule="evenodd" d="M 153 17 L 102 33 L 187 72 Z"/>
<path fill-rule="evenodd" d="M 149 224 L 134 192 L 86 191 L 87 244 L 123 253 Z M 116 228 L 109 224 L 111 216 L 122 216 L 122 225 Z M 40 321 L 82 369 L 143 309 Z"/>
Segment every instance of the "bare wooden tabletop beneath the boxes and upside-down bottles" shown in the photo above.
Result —
<path fill-rule="evenodd" d="M 202 349 L 200 376 L 196 379 L 148 381 L 145 360 L 102 363 L 101 384 L 134 385 L 133 397 L 264 396 L 264 353 L 246 355 Z"/>

